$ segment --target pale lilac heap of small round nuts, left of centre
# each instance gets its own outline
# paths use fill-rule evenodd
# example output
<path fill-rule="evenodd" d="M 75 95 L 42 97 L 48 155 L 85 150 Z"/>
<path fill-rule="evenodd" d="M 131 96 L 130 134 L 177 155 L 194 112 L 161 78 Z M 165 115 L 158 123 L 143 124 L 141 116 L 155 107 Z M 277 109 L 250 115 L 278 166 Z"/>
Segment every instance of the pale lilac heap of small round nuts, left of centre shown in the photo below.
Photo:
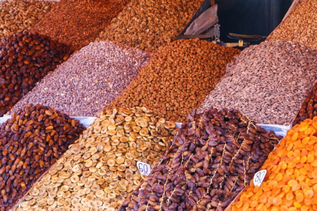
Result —
<path fill-rule="evenodd" d="M 70 116 L 96 116 L 148 60 L 149 55 L 138 49 L 92 42 L 44 77 L 10 112 L 39 103 Z"/>

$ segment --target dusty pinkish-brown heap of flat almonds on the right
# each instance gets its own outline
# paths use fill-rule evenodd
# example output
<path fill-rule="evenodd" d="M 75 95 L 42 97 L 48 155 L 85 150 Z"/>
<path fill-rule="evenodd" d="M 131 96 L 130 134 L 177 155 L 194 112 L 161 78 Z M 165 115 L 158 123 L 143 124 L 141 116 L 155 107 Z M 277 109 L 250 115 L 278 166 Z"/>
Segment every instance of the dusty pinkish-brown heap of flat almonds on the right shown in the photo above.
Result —
<path fill-rule="evenodd" d="M 235 107 L 257 123 L 290 125 L 317 79 L 316 61 L 317 51 L 300 43 L 250 46 L 227 66 L 201 107 Z"/>

